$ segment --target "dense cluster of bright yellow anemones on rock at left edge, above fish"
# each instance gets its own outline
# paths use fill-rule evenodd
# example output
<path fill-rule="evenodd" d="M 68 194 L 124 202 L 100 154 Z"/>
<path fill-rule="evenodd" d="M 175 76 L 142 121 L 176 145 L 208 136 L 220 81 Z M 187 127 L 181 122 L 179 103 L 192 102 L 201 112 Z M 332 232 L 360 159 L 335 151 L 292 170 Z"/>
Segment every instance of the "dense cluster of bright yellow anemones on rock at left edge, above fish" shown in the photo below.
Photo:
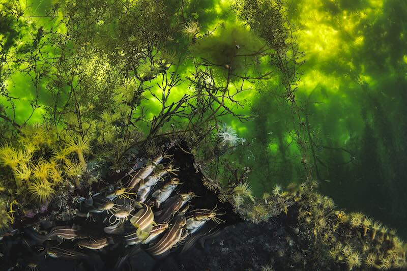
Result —
<path fill-rule="evenodd" d="M 84 155 L 91 152 L 89 139 L 67 136 L 57 141 L 55 133 L 38 125 L 25 126 L 20 132 L 17 143 L 0 147 L 0 167 L 13 172 L 17 195 L 26 191 L 35 201 L 46 202 L 64 177 L 79 186 L 79 177 L 86 169 Z"/>

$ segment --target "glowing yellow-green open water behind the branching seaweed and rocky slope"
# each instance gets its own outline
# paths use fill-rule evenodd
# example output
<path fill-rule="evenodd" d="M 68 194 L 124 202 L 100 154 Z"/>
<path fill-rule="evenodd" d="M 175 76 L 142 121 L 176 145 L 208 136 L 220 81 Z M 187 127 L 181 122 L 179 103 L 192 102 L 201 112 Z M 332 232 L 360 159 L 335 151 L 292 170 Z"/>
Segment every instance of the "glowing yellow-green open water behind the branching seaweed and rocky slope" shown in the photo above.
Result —
<path fill-rule="evenodd" d="M 7 2 L 0 2 L 3 6 L 0 10 L 7 8 L 4 6 Z M 170 6 L 177 1 L 164 2 Z M 237 22 L 228 3 L 189 1 L 183 16 L 197 21 L 202 31 L 216 30 L 212 38 L 191 46 L 188 52 L 186 40 L 171 45 L 182 60 L 182 64 L 172 67 L 171 71 L 181 75 L 190 72 L 193 63 L 183 58 L 188 54 L 219 61 L 228 58 L 224 51 L 219 51 L 222 44 L 225 50 L 236 44 L 246 50 L 261 44 L 246 26 Z M 28 6 L 31 7 L 25 11 L 26 16 L 34 16 L 30 17 L 32 22 L 28 26 L 10 27 L 10 21 L 2 17 L 0 37 L 5 50 L 32 40 L 39 26 L 45 31 L 52 26 L 41 17 L 52 7 L 51 1 L 34 0 Z M 321 192 L 331 196 L 339 208 L 360 210 L 397 228 L 400 235 L 407 237 L 403 227 L 407 221 L 404 204 L 407 198 L 407 2 L 296 0 L 287 1 L 286 8 L 299 50 L 304 52 L 301 58 L 305 63 L 299 70 L 295 94 L 301 112 L 300 125 L 306 135 L 306 167 L 319 179 Z M 120 39 L 114 36 L 115 29 L 120 27 L 116 23 L 112 20 L 109 24 L 98 24 L 92 31 L 100 35 L 90 42 L 104 47 L 111 39 Z M 54 29 L 64 32 L 61 25 Z M 47 50 L 52 49 L 43 48 Z M 103 59 L 95 56 L 94 61 L 100 63 Z M 238 62 L 233 65 L 240 72 L 245 67 Z M 267 71 L 268 67 L 260 64 L 256 69 Z M 107 73 L 109 71 L 100 76 Z M 219 69 L 218 73 L 222 76 L 224 71 Z M 31 114 L 30 100 L 36 97 L 36 88 L 32 80 L 21 73 L 13 74 L 6 84 L 10 95 L 20 98 L 14 105 L 16 121 L 21 124 Z M 43 91 L 46 85 L 46 79 L 39 80 L 39 104 L 44 106 L 34 112 L 31 123 L 41 122 L 44 107 L 52 100 L 52 96 Z M 98 87 L 106 85 L 100 82 Z M 239 146 L 229 155 L 240 165 L 252 168 L 249 181 L 257 196 L 276 184 L 303 182 L 307 173 L 293 137 L 295 116 L 284 98 L 283 87 L 275 78 L 246 86 L 252 90 L 239 96 L 245 106 L 234 110 L 255 117 L 243 123 L 233 116 L 221 121 L 250 144 Z M 185 89 L 186 82 L 172 92 L 170 99 L 179 99 Z M 155 91 L 153 88 L 152 93 Z M 106 97 L 108 95 L 106 92 Z M 143 105 L 152 118 L 160 106 L 152 94 L 145 95 L 149 100 L 143 101 Z M 103 103 L 105 98 L 98 99 Z M 5 97 L 0 97 L 0 101 L 10 108 Z M 140 129 L 146 131 L 148 125 L 140 124 Z"/>

